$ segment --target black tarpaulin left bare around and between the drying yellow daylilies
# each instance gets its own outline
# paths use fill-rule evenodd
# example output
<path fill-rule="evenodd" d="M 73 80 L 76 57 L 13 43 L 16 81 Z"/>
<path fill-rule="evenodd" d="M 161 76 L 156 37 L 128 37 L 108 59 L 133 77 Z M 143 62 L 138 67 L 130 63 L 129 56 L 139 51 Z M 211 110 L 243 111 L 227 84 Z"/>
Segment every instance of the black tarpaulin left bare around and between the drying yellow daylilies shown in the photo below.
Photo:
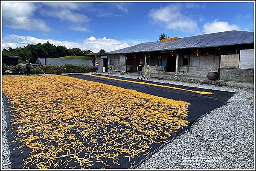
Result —
<path fill-rule="evenodd" d="M 119 164 L 116 165 L 113 163 L 108 163 L 111 165 L 111 168 L 136 168 L 138 165 L 140 165 L 143 161 L 145 161 L 148 157 L 150 157 L 152 154 L 154 154 L 157 150 L 161 149 L 163 146 L 165 146 L 167 143 L 171 142 L 172 140 L 175 139 L 177 135 L 182 134 L 185 132 L 187 129 L 189 129 L 192 125 L 193 122 L 198 121 L 201 117 L 206 115 L 209 111 L 212 109 L 221 107 L 222 105 L 226 104 L 228 99 L 232 97 L 235 93 L 233 92 L 224 92 L 224 91 L 217 91 L 217 90 L 209 90 L 209 89 L 200 89 L 200 88 L 195 88 L 195 87 L 185 87 L 185 86 L 179 86 L 179 85 L 172 85 L 172 84 L 160 84 L 160 83 L 155 83 L 151 81 L 137 81 L 138 83 L 131 83 L 131 82 L 125 82 L 125 81 L 117 81 L 117 80 L 111 80 L 108 78 L 97 78 L 93 76 L 88 76 L 88 75 L 66 75 L 67 77 L 73 77 L 73 78 L 79 78 L 79 79 L 84 79 L 88 81 L 94 81 L 94 82 L 99 82 L 103 84 L 108 84 L 108 85 L 113 85 L 117 87 L 122 87 L 125 89 L 131 89 L 131 90 L 136 90 L 138 92 L 142 93 L 147 93 L 150 95 L 155 95 L 158 97 L 164 97 L 176 101 L 185 101 L 189 102 L 189 108 L 188 108 L 188 116 L 186 118 L 187 121 L 189 121 L 188 126 L 186 127 L 181 127 L 180 129 L 176 130 L 176 132 L 172 133 L 172 135 L 168 138 L 168 141 L 165 143 L 154 143 L 151 144 L 150 150 L 147 155 L 140 155 L 135 156 L 134 158 L 131 159 L 131 161 L 128 160 L 127 157 L 125 157 L 125 154 L 121 154 L 119 156 Z M 118 79 L 123 79 L 123 80 L 132 80 L 134 79 L 128 79 L 128 78 L 120 78 L 120 77 L 113 77 L 109 76 L 110 78 L 118 78 Z M 175 89 L 170 89 L 166 87 L 156 87 L 152 85 L 146 85 L 146 84 L 140 84 L 140 82 L 146 82 L 146 83 L 154 83 L 154 84 L 159 84 L 159 85 L 167 85 L 167 86 L 172 86 L 172 87 L 179 87 L 183 89 L 188 89 L 188 90 L 198 90 L 198 91 L 207 91 L 211 92 L 212 95 L 203 95 L 203 94 L 198 94 L 198 93 L 193 93 L 193 92 L 188 92 L 188 91 L 183 91 L 183 90 L 175 90 Z M 69 85 L 67 85 L 69 86 Z M 104 98 L 104 97 L 102 97 Z M 129 97 L 128 97 L 129 98 Z M 5 103 L 7 107 L 11 104 L 8 103 L 7 100 L 5 100 Z M 12 120 L 12 114 L 9 115 L 8 120 Z M 116 122 L 113 122 L 113 124 L 109 125 L 108 130 L 111 130 L 117 125 Z M 122 124 L 121 124 L 122 125 Z M 15 140 L 15 134 L 12 134 L 12 130 L 17 128 L 17 126 L 20 125 L 14 125 L 10 126 L 7 129 L 7 135 L 9 138 L 9 147 L 11 151 L 11 161 L 12 161 L 12 168 L 22 168 L 23 159 L 27 158 L 29 156 L 29 153 L 31 153 L 31 149 L 23 149 L 23 153 L 19 153 L 18 151 L 13 151 L 12 149 L 16 149 L 19 144 L 17 142 L 12 142 L 12 140 Z M 124 129 L 126 128 L 124 125 L 122 125 Z M 136 130 L 132 130 L 136 131 Z M 124 134 L 124 132 L 118 130 L 117 133 Z M 77 140 L 79 137 L 76 137 Z M 44 142 L 42 142 L 44 143 Z M 104 143 L 99 140 L 99 143 Z M 120 143 L 120 142 L 118 142 Z M 49 146 L 56 146 L 56 142 L 51 142 L 49 143 Z M 90 143 L 88 144 L 90 146 Z M 65 152 L 64 152 L 65 153 Z M 58 154 L 61 155 L 61 154 Z M 84 155 L 84 156 L 83 156 Z M 80 157 L 86 157 L 84 153 L 80 154 Z M 63 159 L 64 160 L 64 159 Z M 96 161 L 92 161 L 93 165 L 89 168 L 101 168 L 103 166 L 102 163 L 98 163 Z M 132 163 L 132 164 L 131 164 Z M 68 165 L 60 165 L 58 168 L 68 168 L 67 166 L 71 166 L 79 168 L 80 165 L 79 163 L 76 163 L 74 161 L 71 161 Z M 35 165 L 30 165 L 29 168 L 35 168 Z"/>

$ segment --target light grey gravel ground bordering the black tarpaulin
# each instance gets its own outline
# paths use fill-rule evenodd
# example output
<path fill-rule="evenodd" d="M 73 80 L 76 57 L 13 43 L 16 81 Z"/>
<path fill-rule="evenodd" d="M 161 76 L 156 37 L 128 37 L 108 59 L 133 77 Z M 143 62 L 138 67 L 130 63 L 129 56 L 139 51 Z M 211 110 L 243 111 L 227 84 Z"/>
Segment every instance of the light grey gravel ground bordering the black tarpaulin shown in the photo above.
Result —
<path fill-rule="evenodd" d="M 102 75 L 106 75 L 102 73 Z M 126 78 L 136 78 L 112 74 Z M 255 169 L 254 90 L 180 81 L 151 81 L 236 92 L 227 105 L 214 109 L 185 132 L 157 151 L 137 169 Z M 6 116 L 2 104 L 2 162 L 10 168 Z"/>

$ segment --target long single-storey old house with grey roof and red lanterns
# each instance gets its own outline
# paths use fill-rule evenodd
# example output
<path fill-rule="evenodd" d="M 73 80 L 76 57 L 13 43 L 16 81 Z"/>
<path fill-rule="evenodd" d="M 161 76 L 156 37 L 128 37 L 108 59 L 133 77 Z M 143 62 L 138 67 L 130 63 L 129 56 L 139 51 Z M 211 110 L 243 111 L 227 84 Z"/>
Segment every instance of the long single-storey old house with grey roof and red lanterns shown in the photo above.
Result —
<path fill-rule="evenodd" d="M 224 31 L 163 39 L 106 52 L 113 70 L 137 72 L 140 61 L 151 73 L 207 77 L 211 70 L 228 81 L 253 82 L 254 32 Z"/>

